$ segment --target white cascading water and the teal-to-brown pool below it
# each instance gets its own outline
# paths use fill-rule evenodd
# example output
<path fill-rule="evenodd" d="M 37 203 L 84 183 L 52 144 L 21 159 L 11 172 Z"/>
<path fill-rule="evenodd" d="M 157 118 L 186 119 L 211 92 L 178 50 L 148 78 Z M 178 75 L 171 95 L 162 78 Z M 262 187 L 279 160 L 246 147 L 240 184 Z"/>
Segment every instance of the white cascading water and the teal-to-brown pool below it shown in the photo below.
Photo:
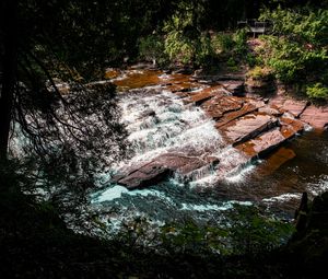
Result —
<path fill-rule="evenodd" d="M 92 194 L 91 207 L 112 230 L 140 216 L 157 224 L 186 218 L 215 223 L 235 204 L 261 205 L 292 218 L 303 191 L 316 196 L 328 190 L 327 131 L 305 131 L 269 156 L 245 163 L 199 107 L 185 104 L 161 85 L 168 78 L 159 75 L 157 85 L 145 82 L 145 88 L 121 93 L 122 121 L 133 155 L 115 165 L 113 172 L 167 152 L 207 153 L 220 160 L 222 171 L 209 163 L 183 177 L 175 174 L 137 190 L 128 190 L 103 174 L 104 188 Z"/>

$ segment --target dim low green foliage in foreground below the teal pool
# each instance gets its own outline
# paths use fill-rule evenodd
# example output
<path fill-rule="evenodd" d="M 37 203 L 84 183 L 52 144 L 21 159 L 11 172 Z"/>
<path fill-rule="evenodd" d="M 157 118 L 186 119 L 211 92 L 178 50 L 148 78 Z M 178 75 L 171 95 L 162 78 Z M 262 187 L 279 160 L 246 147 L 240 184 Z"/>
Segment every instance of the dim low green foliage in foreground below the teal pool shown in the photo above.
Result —
<path fill-rule="evenodd" d="M 150 220 L 137 218 L 124 224 L 117 236 L 129 247 L 153 247 L 161 254 L 257 255 L 286 242 L 293 225 L 257 207 L 234 206 L 221 223 L 200 223 L 192 218 L 152 228 Z M 150 241 L 151 240 L 151 241 Z M 150 247 L 147 247 L 150 245 Z"/>

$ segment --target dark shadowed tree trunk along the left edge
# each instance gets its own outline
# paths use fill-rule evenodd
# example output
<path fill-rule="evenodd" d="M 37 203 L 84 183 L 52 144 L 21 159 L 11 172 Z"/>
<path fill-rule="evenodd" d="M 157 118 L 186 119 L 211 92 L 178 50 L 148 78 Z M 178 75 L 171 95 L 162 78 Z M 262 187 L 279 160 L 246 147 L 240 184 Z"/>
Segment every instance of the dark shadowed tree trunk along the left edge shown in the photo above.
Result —
<path fill-rule="evenodd" d="M 16 78 L 17 32 L 16 0 L 7 0 L 2 9 L 3 60 L 2 89 L 0 95 L 0 160 L 7 160 L 10 123 L 12 116 L 13 92 Z"/>

